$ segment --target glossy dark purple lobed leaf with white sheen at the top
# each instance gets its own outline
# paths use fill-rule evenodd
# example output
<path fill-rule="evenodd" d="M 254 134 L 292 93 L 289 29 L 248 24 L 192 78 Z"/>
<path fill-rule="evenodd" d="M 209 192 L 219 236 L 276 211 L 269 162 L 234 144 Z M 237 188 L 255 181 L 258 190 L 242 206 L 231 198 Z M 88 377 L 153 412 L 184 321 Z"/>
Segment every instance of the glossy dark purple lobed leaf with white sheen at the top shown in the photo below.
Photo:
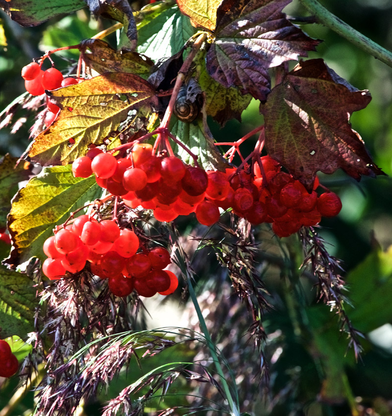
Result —
<path fill-rule="evenodd" d="M 318 40 L 286 19 L 291 0 L 224 0 L 217 11 L 215 42 L 207 52 L 209 74 L 224 87 L 265 101 L 268 69 L 307 56 Z"/>

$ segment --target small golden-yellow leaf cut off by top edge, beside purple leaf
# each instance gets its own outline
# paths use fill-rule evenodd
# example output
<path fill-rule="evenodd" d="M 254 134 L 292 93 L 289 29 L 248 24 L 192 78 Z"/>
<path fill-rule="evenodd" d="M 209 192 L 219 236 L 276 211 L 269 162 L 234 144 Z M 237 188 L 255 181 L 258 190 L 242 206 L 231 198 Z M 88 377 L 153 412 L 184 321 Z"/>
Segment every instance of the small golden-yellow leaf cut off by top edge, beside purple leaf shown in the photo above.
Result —
<path fill-rule="evenodd" d="M 181 13 L 189 16 L 195 27 L 214 30 L 221 0 L 177 0 Z"/>

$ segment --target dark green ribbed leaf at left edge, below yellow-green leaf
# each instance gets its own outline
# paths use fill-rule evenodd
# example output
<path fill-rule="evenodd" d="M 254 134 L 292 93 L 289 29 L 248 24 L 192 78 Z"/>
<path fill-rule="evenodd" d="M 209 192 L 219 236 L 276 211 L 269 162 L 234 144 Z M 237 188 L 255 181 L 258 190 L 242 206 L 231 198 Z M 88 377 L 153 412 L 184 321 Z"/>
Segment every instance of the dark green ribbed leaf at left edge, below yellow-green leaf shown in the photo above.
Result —
<path fill-rule="evenodd" d="M 33 281 L 25 274 L 0 266 L 0 339 L 26 338 L 34 330 L 35 294 Z"/>

